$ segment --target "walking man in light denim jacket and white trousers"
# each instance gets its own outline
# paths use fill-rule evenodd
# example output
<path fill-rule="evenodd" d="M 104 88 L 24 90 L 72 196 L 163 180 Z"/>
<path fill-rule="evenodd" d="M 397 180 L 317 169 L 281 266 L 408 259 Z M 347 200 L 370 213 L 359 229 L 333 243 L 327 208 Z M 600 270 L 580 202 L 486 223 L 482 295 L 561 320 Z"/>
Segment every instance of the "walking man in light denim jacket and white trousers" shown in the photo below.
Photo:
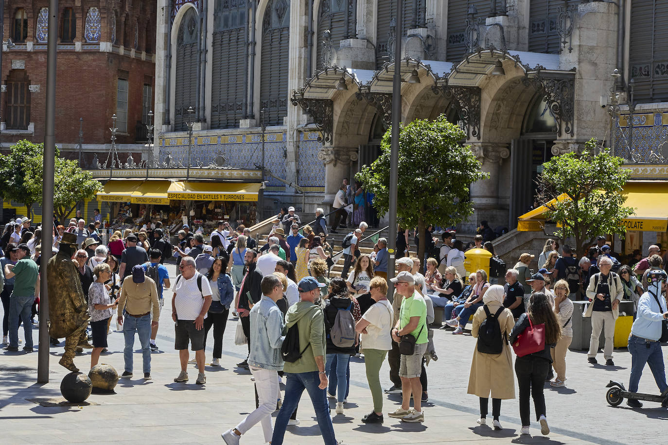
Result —
<path fill-rule="evenodd" d="M 251 354 L 248 356 L 248 365 L 255 377 L 255 388 L 259 406 L 248 414 L 240 424 L 231 430 L 222 433 L 226 444 L 236 445 L 242 434 L 251 429 L 258 422 L 262 424 L 265 442 L 271 442 L 273 428 L 271 428 L 271 413 L 276 407 L 276 398 L 279 394 L 279 378 L 277 371 L 283 370 L 283 313 L 276 305 L 283 298 L 283 284 L 274 275 L 265 276 L 261 282 L 262 298 L 251 309 Z"/>

